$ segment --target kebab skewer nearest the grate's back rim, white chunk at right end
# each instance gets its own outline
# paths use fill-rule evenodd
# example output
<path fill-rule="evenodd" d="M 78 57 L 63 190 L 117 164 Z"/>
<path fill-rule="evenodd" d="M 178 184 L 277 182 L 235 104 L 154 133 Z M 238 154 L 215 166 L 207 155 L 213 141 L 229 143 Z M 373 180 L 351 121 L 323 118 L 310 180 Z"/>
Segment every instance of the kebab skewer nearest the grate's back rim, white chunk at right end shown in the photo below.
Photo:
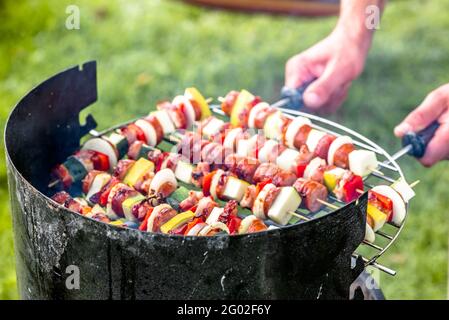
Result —
<path fill-rule="evenodd" d="M 376 154 L 370 150 L 356 150 L 348 136 L 336 137 L 313 129 L 308 118 L 296 117 L 291 120 L 246 90 L 231 91 L 220 100 L 222 111 L 230 116 L 233 127 L 263 130 L 268 139 L 277 140 L 292 149 L 299 150 L 306 145 L 310 152 L 329 164 L 334 164 L 335 160 L 336 166 L 349 168 L 359 176 L 371 172 L 383 175 L 377 170 Z"/>

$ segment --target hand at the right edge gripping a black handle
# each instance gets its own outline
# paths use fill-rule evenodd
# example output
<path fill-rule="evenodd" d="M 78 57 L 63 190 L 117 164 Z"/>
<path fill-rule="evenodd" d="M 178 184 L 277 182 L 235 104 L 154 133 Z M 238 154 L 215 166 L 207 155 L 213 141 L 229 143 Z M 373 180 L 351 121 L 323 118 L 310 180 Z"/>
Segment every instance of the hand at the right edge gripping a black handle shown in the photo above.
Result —
<path fill-rule="evenodd" d="M 440 123 L 440 127 L 429 142 L 426 153 L 419 159 L 426 167 L 449 159 L 449 84 L 432 91 L 421 105 L 394 129 L 394 133 L 402 138 L 408 132 L 425 129 L 435 120 Z"/>

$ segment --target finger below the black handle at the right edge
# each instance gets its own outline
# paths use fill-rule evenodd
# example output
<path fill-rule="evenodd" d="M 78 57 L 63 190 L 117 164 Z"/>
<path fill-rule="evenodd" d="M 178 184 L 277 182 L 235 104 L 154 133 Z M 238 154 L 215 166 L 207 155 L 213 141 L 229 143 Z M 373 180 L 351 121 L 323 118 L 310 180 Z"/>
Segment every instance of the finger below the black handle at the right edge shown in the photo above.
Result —
<path fill-rule="evenodd" d="M 449 123 L 443 123 L 429 142 L 426 153 L 419 161 L 426 167 L 431 167 L 449 155 Z"/>

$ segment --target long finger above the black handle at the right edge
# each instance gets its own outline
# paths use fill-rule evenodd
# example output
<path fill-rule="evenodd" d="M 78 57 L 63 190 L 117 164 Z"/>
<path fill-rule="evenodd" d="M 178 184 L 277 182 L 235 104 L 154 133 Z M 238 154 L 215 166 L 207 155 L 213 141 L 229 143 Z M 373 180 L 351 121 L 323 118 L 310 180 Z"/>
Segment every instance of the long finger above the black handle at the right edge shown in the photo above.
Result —
<path fill-rule="evenodd" d="M 445 89 L 447 90 L 447 88 Z M 402 138 L 408 132 L 418 132 L 428 127 L 433 121 L 437 120 L 448 107 L 448 95 L 441 87 L 430 93 L 421 105 L 412 111 L 405 119 L 394 129 L 394 134 Z"/>

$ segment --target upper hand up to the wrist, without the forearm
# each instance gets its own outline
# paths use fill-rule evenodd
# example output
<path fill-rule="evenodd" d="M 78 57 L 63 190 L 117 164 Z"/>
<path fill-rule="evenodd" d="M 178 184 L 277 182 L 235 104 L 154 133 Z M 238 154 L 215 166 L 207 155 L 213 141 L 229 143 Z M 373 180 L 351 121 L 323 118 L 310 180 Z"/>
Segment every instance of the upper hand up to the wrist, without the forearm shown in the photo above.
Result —
<path fill-rule="evenodd" d="M 367 39 L 368 41 L 369 39 Z M 346 99 L 351 83 L 363 70 L 367 50 L 336 29 L 286 64 L 285 85 L 298 88 L 314 81 L 304 93 L 308 108 L 336 110 Z"/>

